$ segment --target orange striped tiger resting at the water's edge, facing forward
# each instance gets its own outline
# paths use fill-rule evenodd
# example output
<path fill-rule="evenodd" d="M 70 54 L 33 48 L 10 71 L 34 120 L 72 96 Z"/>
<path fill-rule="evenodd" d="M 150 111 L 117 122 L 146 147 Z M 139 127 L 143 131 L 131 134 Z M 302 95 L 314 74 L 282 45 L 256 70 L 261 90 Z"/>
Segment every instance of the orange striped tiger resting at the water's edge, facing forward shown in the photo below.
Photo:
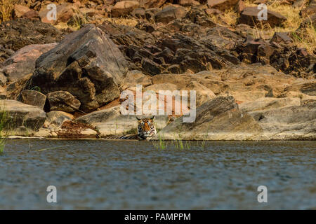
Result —
<path fill-rule="evenodd" d="M 154 116 L 152 118 L 138 118 L 137 134 L 125 134 L 121 137 L 112 137 L 110 139 L 138 139 L 150 140 L 157 134 L 156 127 L 154 127 Z"/>

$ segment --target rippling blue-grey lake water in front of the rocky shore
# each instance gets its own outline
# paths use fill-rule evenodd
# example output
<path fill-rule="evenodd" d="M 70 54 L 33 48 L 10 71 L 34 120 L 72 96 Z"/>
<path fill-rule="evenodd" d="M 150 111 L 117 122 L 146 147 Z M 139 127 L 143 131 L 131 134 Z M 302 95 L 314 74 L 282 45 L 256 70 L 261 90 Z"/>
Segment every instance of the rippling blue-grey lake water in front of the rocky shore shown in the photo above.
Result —
<path fill-rule="evenodd" d="M 0 209 L 316 209 L 315 177 L 316 141 L 8 140 Z"/>

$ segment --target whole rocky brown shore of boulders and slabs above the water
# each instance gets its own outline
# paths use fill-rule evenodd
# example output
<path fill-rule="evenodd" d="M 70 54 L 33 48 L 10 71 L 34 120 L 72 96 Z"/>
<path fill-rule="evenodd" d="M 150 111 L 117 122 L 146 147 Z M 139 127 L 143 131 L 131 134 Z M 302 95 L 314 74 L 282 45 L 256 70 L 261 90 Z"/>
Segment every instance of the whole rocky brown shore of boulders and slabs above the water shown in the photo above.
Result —
<path fill-rule="evenodd" d="M 3 137 L 135 133 L 136 116 L 121 114 L 120 94 L 142 85 L 155 94 L 196 91 L 195 122 L 157 116 L 156 139 L 316 139 L 316 49 L 294 38 L 315 24 L 313 0 L 278 5 L 299 6 L 303 22 L 270 36 L 289 20 L 270 1 L 265 24 L 251 19 L 261 1 L 27 2 L 0 24 Z M 58 6 L 55 21 L 46 20 L 48 3 Z M 237 16 L 233 25 L 227 15 Z"/>

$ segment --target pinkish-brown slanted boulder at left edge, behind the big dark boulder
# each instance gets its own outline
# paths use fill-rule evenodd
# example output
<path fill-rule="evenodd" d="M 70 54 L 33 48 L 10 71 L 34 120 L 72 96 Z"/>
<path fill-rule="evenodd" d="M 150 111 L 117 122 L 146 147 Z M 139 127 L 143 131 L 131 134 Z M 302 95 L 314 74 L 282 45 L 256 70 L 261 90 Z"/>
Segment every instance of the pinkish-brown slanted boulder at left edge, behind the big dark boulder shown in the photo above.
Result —
<path fill-rule="evenodd" d="M 11 57 L 6 59 L 0 73 L 8 78 L 9 82 L 15 82 L 35 70 L 35 62 L 44 52 L 51 50 L 58 43 L 32 44 L 27 45 L 15 52 Z"/>

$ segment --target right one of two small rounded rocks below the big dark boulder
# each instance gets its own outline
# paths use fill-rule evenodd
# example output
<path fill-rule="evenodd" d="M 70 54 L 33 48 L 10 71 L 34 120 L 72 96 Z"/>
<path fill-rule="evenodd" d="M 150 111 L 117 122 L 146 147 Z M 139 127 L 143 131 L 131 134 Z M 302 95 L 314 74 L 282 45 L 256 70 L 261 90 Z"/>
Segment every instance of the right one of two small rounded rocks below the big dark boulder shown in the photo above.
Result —
<path fill-rule="evenodd" d="M 76 97 L 67 91 L 56 91 L 47 94 L 49 111 L 74 112 L 80 107 L 80 102 Z"/>

